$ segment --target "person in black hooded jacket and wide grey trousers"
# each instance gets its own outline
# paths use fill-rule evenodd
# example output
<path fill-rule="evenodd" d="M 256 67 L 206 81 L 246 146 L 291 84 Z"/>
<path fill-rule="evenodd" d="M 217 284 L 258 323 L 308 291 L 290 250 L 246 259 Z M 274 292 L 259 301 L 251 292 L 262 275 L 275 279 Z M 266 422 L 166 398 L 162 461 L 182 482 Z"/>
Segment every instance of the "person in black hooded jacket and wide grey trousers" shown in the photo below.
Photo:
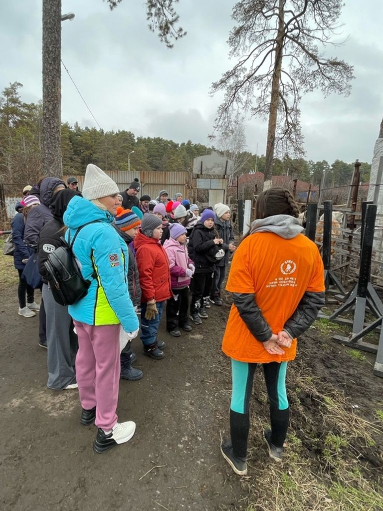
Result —
<path fill-rule="evenodd" d="M 75 358 L 78 350 L 77 335 L 68 308 L 58 304 L 48 285 L 44 262 L 57 247 L 63 245 L 65 226 L 62 220 L 66 207 L 73 197 L 81 194 L 75 190 L 59 190 L 51 199 L 53 219 L 41 229 L 38 240 L 38 266 L 42 276 L 42 297 L 46 311 L 46 343 L 48 349 L 46 386 L 53 390 L 77 388 Z"/>

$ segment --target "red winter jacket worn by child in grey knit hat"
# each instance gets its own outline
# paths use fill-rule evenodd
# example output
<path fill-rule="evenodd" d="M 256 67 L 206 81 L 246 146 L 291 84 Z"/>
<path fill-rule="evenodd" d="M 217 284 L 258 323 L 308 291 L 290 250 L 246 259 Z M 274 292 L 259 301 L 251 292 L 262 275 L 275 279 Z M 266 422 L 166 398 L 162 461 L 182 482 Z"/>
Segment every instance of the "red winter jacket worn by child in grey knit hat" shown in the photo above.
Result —
<path fill-rule="evenodd" d="M 163 301 L 173 296 L 171 290 L 169 259 L 159 240 L 148 238 L 138 230 L 134 238 L 138 266 L 141 301 L 153 298 Z"/>

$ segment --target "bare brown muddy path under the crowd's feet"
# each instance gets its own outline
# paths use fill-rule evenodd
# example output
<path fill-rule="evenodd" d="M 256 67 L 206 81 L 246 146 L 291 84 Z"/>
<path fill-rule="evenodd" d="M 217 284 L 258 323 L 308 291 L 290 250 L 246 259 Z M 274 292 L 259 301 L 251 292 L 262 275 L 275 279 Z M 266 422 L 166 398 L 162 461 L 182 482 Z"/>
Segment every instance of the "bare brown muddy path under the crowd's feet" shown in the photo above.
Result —
<path fill-rule="evenodd" d="M 180 339 L 161 329 L 163 360 L 143 356 L 133 341 L 144 377 L 121 381 L 117 413 L 136 422 L 136 434 L 97 455 L 95 427 L 79 423 L 78 391 L 45 387 L 37 317 L 18 316 L 16 292 L 2 293 L 2 511 L 240 508 L 244 491 L 219 451 L 229 402 L 229 366 L 219 351 L 224 318 L 210 310 Z"/>

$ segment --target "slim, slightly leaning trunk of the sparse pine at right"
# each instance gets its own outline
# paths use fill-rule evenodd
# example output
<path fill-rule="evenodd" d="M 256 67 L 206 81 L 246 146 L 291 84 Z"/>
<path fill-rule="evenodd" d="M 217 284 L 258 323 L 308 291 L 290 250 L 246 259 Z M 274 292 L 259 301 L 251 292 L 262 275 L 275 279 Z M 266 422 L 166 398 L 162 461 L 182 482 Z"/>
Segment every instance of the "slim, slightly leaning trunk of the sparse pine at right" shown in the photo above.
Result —
<path fill-rule="evenodd" d="M 273 159 L 274 159 L 274 146 L 275 146 L 275 133 L 277 129 L 277 113 L 279 104 L 279 82 L 282 68 L 282 49 L 283 49 L 283 28 L 284 28 L 284 0 L 279 0 L 278 6 L 278 34 L 275 44 L 275 60 L 274 60 L 274 73 L 271 85 L 271 98 L 270 98 L 270 111 L 269 111 L 269 126 L 267 132 L 266 144 L 266 168 L 265 179 L 271 179 L 273 173 Z"/>

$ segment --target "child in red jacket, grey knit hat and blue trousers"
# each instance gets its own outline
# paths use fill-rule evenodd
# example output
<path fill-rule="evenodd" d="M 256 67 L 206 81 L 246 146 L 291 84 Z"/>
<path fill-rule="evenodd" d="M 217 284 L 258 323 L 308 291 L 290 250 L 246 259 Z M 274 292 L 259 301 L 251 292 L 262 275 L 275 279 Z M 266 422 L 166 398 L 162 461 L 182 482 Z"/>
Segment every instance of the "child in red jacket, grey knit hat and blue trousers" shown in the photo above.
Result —
<path fill-rule="evenodd" d="M 157 340 L 165 301 L 172 296 L 169 260 L 160 239 L 162 220 L 145 213 L 141 229 L 134 239 L 141 287 L 141 341 L 143 353 L 161 359 L 165 343 Z"/>

